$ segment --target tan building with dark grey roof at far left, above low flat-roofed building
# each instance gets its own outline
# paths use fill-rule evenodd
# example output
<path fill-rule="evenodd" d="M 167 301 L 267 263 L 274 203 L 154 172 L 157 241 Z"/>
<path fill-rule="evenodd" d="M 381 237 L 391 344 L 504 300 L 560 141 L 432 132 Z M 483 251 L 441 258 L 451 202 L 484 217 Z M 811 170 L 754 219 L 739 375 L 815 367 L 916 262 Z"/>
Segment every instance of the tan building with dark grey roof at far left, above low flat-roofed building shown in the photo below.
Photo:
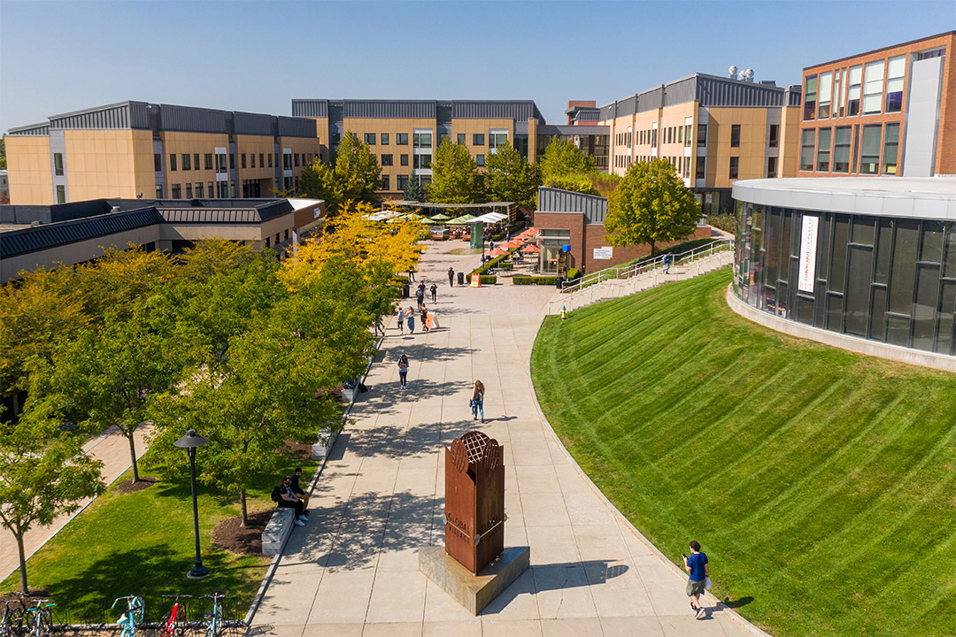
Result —
<path fill-rule="evenodd" d="M 267 197 L 293 190 L 320 142 L 303 117 L 99 106 L 8 132 L 11 203 Z"/>

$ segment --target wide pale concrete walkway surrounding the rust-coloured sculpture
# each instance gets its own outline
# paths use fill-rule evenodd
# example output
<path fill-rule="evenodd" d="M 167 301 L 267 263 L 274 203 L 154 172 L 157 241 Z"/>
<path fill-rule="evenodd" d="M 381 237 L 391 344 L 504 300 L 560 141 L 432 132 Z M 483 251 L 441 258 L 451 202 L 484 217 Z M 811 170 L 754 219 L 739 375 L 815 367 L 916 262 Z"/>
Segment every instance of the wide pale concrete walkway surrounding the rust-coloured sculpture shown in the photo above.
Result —
<path fill-rule="evenodd" d="M 427 252 L 422 273 L 444 283 L 435 306 L 442 327 L 402 337 L 390 325 L 370 391 L 318 481 L 311 520 L 286 547 L 256 632 L 752 634 L 712 601 L 706 619 L 694 619 L 684 577 L 605 503 L 539 416 L 528 359 L 554 288 L 448 290 L 448 265 L 477 258 L 446 250 Z M 402 352 L 411 362 L 407 391 L 398 385 Z M 487 387 L 484 425 L 467 408 L 476 378 Z M 475 427 L 505 446 L 505 542 L 531 546 L 532 562 L 479 617 L 431 584 L 416 555 L 444 542 L 442 449 Z"/>

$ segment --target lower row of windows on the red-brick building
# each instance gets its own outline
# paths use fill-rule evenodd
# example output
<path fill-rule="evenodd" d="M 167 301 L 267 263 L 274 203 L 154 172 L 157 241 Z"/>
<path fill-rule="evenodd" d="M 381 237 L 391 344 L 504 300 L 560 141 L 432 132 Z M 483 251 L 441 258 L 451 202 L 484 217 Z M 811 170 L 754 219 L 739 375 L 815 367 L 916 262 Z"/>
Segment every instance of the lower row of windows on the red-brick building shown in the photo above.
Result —
<path fill-rule="evenodd" d="M 900 122 L 804 129 L 800 134 L 800 170 L 896 175 L 899 150 Z"/>

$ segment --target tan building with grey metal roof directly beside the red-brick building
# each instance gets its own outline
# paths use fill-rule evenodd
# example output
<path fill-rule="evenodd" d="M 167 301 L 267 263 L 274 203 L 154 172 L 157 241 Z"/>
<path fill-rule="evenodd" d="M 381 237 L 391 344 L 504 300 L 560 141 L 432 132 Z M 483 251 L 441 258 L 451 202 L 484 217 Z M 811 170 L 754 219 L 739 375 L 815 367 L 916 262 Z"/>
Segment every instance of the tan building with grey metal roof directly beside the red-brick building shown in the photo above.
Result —
<path fill-rule="evenodd" d="M 736 180 L 795 176 L 799 118 L 798 86 L 693 74 L 605 104 L 599 123 L 610 128 L 611 172 L 667 159 L 715 214 L 730 212 Z"/>

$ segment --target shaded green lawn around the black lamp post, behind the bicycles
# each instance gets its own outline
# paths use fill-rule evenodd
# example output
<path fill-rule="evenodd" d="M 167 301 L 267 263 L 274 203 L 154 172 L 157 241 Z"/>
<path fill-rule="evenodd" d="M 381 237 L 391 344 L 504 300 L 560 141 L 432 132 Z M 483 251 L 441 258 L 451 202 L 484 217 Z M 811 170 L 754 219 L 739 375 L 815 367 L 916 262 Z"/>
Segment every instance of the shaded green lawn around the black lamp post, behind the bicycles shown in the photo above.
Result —
<path fill-rule="evenodd" d="M 294 466 L 302 467 L 305 485 L 317 463 L 291 459 L 283 473 L 291 474 Z M 140 473 L 154 475 L 142 464 Z M 129 477 L 123 476 L 117 483 Z M 260 478 L 261 488 L 249 496 L 250 514 L 275 506 L 270 495 L 278 481 L 273 476 Z M 237 556 L 213 548 L 212 529 L 220 521 L 239 515 L 238 502 L 203 484 L 199 493 L 200 542 L 203 563 L 212 569 L 209 577 L 199 581 L 185 577 L 195 561 L 192 500 L 185 477 L 163 479 L 129 494 L 121 494 L 115 485 L 111 487 L 27 561 L 31 588 L 47 588 L 58 605 L 65 603 L 71 609 L 103 603 L 108 606 L 117 597 L 141 595 L 150 619 L 156 618 L 158 606 L 165 611 L 167 603 L 160 597 L 163 594 L 205 595 L 220 589 L 232 596 L 229 605 L 241 617 L 271 559 Z M 5 535 L 3 541 L 12 538 Z M 0 591 L 18 587 L 18 570 L 0 583 Z M 107 617 L 115 619 L 112 612 Z"/>

